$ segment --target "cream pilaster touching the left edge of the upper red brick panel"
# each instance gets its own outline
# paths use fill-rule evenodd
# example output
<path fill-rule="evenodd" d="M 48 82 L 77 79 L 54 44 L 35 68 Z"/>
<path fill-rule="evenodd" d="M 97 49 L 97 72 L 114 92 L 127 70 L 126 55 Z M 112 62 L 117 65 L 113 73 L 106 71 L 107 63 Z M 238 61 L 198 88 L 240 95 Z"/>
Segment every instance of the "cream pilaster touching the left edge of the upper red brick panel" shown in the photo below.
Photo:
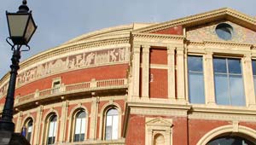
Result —
<path fill-rule="evenodd" d="M 142 97 L 145 99 L 149 98 L 149 45 L 143 45 L 143 86 L 142 86 Z"/>

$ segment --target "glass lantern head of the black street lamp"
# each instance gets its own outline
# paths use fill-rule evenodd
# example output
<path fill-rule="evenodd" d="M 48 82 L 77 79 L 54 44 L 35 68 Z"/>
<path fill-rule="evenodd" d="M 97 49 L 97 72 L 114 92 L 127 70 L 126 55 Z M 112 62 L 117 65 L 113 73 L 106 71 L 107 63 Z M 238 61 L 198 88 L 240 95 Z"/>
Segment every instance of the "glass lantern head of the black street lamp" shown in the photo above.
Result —
<path fill-rule="evenodd" d="M 36 31 L 37 26 L 32 18 L 32 13 L 8 13 L 6 12 L 9 38 L 14 44 L 28 44 Z"/>

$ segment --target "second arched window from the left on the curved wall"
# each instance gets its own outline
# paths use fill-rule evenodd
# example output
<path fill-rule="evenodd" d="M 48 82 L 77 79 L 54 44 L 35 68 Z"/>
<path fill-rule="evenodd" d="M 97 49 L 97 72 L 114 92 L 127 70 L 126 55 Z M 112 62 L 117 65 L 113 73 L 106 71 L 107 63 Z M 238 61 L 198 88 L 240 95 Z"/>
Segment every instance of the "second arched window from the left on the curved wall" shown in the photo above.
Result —
<path fill-rule="evenodd" d="M 55 143 L 56 131 L 57 131 L 57 115 L 54 114 L 49 118 L 47 144 Z"/>

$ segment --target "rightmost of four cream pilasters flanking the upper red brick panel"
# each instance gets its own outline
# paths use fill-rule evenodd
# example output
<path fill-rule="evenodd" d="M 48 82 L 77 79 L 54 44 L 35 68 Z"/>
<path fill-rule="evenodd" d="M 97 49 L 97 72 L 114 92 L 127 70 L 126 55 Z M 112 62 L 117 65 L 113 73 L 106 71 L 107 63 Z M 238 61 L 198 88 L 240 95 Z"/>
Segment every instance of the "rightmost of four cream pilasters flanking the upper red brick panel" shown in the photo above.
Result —
<path fill-rule="evenodd" d="M 184 70 L 184 49 L 177 48 L 177 100 L 186 101 L 185 97 L 185 70 Z"/>

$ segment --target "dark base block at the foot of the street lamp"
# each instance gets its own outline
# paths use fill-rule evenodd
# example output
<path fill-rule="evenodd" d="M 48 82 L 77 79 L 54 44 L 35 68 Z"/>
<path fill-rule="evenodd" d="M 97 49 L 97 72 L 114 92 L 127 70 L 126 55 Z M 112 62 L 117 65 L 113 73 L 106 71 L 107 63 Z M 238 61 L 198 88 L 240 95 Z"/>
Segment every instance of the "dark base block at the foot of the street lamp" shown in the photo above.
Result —
<path fill-rule="evenodd" d="M 1 145 L 30 145 L 24 136 L 20 133 L 10 131 L 0 131 L 0 144 Z"/>

